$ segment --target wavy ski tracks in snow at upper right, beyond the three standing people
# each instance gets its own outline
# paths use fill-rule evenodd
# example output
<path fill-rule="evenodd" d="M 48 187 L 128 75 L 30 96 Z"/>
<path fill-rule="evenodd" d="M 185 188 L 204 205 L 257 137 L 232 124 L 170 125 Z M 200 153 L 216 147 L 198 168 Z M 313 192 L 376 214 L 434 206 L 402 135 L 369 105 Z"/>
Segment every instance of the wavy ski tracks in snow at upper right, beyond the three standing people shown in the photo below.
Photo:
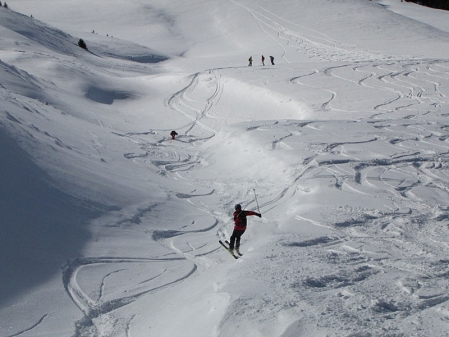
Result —
<path fill-rule="evenodd" d="M 360 94 L 357 87 L 385 92 L 385 100 L 373 102 L 373 117 L 382 118 L 382 114 L 407 111 L 415 114 L 416 111 L 436 111 L 447 104 L 448 80 L 446 76 L 437 76 L 428 71 L 421 71 L 420 67 L 430 69 L 431 66 L 448 64 L 446 60 L 397 60 L 397 61 L 370 61 L 348 63 L 324 69 L 305 71 L 303 75 L 295 76 L 290 82 L 296 85 L 313 88 L 317 91 L 329 93 L 329 99 L 317 103 L 314 107 L 323 111 L 354 112 L 347 110 L 345 100 L 339 98 L 338 92 L 331 87 L 331 83 L 324 84 L 325 77 L 337 78 L 340 81 L 353 85 L 352 90 Z M 446 75 L 443 73 L 443 75 Z M 317 78 L 323 86 L 317 87 L 309 84 L 316 83 Z M 369 98 L 366 92 L 366 99 Z M 362 92 L 363 95 L 363 92 Z M 351 97 L 349 97 L 351 98 Z M 365 97 L 362 96 L 362 99 Z"/>

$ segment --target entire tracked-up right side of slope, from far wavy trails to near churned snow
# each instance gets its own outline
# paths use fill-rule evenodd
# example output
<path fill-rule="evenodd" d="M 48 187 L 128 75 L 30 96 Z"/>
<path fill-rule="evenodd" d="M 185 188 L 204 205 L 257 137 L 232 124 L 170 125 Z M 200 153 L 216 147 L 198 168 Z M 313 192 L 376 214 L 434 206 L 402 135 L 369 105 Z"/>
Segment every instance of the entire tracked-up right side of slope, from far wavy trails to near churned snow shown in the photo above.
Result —
<path fill-rule="evenodd" d="M 410 336 L 407 322 L 419 322 L 413 336 L 423 336 L 433 320 L 447 322 L 449 144 L 447 125 L 440 121 L 449 103 L 448 65 L 447 60 L 377 60 L 311 70 L 291 78 L 293 84 L 308 86 L 310 77 L 333 77 L 354 88 L 385 92 L 386 98 L 373 102 L 369 119 L 326 122 L 347 123 L 341 129 L 350 134 L 357 133 L 350 131 L 350 124 L 365 125 L 360 127 L 363 136 L 358 137 L 365 138 L 360 142 L 342 141 L 345 135 L 328 133 L 326 124 L 319 121 L 292 122 L 290 134 L 273 142 L 271 150 L 282 152 L 282 144 L 288 144 L 289 151 L 313 154 L 292 167 L 292 184 L 277 194 L 271 192 L 272 198 L 262 201 L 261 207 L 265 212 L 275 209 L 291 202 L 296 191 L 309 192 L 309 181 L 326 180 L 331 190 L 382 200 L 389 210 L 334 205 L 327 206 L 319 218 L 296 215 L 298 221 L 328 228 L 335 236 L 288 237 L 284 249 L 275 254 L 267 248 L 262 260 L 295 266 L 281 273 L 264 268 L 249 275 L 268 275 L 275 293 L 289 298 L 277 301 L 273 314 L 278 307 L 302 308 L 308 303 L 315 310 L 298 324 L 313 320 L 334 331 L 330 336 L 364 336 L 363 331 L 370 331 L 369 336 L 389 336 L 388 332 Z M 317 111 L 347 111 L 331 85 L 315 89 L 331 93 L 329 101 L 316 104 Z M 286 132 L 286 123 L 281 128 Z M 295 136 L 298 130 L 300 137 Z M 355 144 L 361 150 L 353 151 Z M 364 155 L 363 149 L 369 154 L 380 147 L 389 148 L 385 153 L 390 155 L 376 159 Z M 302 267 L 303 260 L 320 265 L 320 274 Z M 394 284 L 388 283 L 391 278 Z M 322 304 L 317 304 L 317 295 Z M 276 297 L 263 300 L 269 301 Z M 257 303 L 252 306 L 255 310 Z M 318 319 L 316 312 L 321 312 Z M 348 329 L 348 325 L 360 329 Z"/>

